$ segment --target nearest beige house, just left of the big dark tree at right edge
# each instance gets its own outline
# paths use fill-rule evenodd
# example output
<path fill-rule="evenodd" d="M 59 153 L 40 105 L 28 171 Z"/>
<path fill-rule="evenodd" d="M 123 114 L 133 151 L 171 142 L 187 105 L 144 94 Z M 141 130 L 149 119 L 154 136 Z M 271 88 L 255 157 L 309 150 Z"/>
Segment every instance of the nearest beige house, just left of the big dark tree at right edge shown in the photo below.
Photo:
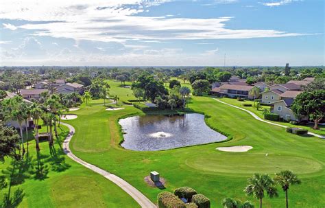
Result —
<path fill-rule="evenodd" d="M 293 99 L 285 99 L 273 102 L 271 112 L 278 114 L 280 117 L 282 117 L 288 122 L 291 120 L 298 122 L 299 119 L 293 114 L 293 111 L 290 109 L 292 102 Z"/>

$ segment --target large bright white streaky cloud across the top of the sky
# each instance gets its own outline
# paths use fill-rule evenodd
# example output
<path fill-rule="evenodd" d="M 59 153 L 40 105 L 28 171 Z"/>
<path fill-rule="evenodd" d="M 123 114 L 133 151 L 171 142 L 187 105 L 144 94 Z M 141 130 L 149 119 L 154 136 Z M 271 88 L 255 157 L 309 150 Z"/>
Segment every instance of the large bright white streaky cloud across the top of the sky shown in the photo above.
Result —
<path fill-rule="evenodd" d="M 165 1 L 80 0 L 71 3 L 71 1 L 35 0 L 33 2 L 18 0 L 1 2 L 0 19 L 38 21 L 18 27 L 33 30 L 35 36 L 73 38 L 75 41 L 123 43 L 128 40 L 199 40 L 302 35 L 277 30 L 227 29 L 225 24 L 232 19 L 228 16 L 214 19 L 141 16 L 145 8 Z M 232 2 L 220 0 L 214 3 Z M 143 7 L 139 8 L 139 5 Z M 39 21 L 47 22 L 39 23 Z"/>

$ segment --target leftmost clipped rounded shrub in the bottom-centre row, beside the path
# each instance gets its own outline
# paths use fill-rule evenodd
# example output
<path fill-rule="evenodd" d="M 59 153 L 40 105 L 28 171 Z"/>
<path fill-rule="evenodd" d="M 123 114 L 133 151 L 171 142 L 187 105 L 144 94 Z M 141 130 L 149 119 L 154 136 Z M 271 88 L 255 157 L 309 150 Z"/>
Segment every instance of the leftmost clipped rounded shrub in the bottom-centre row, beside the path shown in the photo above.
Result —
<path fill-rule="evenodd" d="M 170 192 L 161 192 L 157 196 L 159 208 L 185 208 L 185 204 Z"/>

